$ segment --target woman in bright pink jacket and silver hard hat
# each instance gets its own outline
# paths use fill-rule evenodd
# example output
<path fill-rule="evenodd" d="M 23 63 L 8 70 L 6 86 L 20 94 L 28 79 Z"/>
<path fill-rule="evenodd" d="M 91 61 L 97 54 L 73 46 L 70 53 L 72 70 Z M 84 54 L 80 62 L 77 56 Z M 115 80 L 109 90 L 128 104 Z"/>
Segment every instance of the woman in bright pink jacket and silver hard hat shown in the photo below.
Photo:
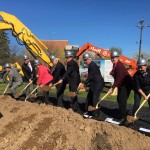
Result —
<path fill-rule="evenodd" d="M 38 80 L 37 84 L 42 87 L 42 91 L 44 94 L 43 102 L 47 105 L 49 103 L 49 90 L 51 86 L 51 82 L 53 80 L 53 76 L 51 75 L 50 69 L 48 68 L 47 64 L 41 60 L 34 60 L 34 65 L 38 71 Z"/>

